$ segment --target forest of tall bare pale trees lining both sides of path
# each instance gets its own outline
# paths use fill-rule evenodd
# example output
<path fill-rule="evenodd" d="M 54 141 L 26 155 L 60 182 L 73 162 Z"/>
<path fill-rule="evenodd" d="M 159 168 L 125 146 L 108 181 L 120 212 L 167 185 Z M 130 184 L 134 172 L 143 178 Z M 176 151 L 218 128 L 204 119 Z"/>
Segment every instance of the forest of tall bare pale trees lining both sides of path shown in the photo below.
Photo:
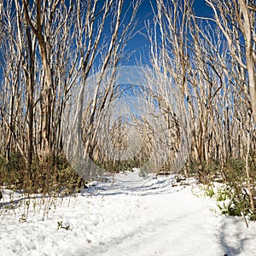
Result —
<path fill-rule="evenodd" d="M 137 167 L 225 183 L 230 215 L 255 219 L 256 3 L 206 3 L 153 0 L 139 24 L 141 0 L 1 0 L 0 189 L 66 195 Z"/>

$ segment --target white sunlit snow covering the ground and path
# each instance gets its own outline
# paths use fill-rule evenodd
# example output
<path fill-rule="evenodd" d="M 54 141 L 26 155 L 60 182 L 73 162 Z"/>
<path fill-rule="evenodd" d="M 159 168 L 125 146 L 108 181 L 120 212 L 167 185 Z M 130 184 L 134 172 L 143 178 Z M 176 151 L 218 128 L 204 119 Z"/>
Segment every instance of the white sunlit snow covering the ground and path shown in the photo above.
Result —
<path fill-rule="evenodd" d="M 216 202 L 189 183 L 119 173 L 64 198 L 44 221 L 44 207 L 23 222 L 16 204 L 1 219 L 0 255 L 256 255 L 256 224 L 211 211 Z"/>

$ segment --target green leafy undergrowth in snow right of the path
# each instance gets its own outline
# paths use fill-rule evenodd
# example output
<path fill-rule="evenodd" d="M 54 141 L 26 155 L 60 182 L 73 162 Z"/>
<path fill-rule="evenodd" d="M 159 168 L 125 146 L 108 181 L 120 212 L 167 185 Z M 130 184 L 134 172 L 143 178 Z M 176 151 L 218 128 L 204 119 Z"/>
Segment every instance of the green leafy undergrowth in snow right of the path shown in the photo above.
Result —
<path fill-rule="evenodd" d="M 189 166 L 189 174 L 194 175 L 202 183 L 204 195 L 217 201 L 219 212 L 228 216 L 247 216 L 256 220 L 256 212 L 252 210 L 248 188 L 253 192 L 256 207 L 256 163 L 255 158 L 249 161 L 251 179 L 248 181 L 245 162 L 230 159 L 225 165 L 216 162 L 211 164 Z M 218 183 L 218 186 L 215 184 Z"/>

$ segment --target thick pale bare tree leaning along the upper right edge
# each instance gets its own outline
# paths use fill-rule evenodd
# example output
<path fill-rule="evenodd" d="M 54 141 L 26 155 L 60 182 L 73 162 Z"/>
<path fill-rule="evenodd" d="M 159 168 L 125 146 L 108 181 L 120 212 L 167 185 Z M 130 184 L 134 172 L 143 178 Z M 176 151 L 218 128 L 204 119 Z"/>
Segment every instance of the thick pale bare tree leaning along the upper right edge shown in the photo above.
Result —
<path fill-rule="evenodd" d="M 214 21 L 224 33 L 229 49 L 237 65 L 247 71 L 247 85 L 251 96 L 254 120 L 256 119 L 255 79 L 255 9 L 254 1 L 207 0 L 214 12 Z"/>

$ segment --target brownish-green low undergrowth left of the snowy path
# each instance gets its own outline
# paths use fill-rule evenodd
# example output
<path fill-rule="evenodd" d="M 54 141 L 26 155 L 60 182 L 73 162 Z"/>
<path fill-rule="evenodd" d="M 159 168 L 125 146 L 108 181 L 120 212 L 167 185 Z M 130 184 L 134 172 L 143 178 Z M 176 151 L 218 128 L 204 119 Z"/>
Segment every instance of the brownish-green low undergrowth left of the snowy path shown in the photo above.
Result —
<path fill-rule="evenodd" d="M 4 201 L 1 192 L 0 217 L 12 212 L 21 214 L 20 222 L 25 222 L 32 211 L 44 219 L 67 195 L 76 196 L 85 183 L 64 154 L 50 163 L 33 159 L 29 168 L 19 153 L 11 154 L 9 161 L 0 157 L 0 191 L 8 193 L 8 200 Z"/>

